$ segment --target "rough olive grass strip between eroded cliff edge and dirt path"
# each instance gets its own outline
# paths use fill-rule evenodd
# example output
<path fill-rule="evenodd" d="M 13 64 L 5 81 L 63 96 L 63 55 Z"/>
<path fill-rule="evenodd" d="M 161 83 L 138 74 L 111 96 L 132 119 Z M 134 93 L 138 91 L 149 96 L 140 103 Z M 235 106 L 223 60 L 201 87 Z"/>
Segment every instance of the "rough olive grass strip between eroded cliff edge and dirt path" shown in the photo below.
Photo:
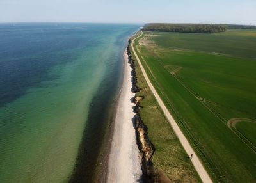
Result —
<path fill-rule="evenodd" d="M 132 59 L 136 63 L 133 54 Z M 152 157 L 154 168 L 172 182 L 200 182 L 193 164 L 172 131 L 153 93 L 149 90 L 138 65 L 136 65 L 136 77 L 137 85 L 142 89 L 136 95 L 145 97 L 140 101 L 143 106 L 140 116 L 143 123 L 147 125 L 148 136 L 156 148 Z"/>

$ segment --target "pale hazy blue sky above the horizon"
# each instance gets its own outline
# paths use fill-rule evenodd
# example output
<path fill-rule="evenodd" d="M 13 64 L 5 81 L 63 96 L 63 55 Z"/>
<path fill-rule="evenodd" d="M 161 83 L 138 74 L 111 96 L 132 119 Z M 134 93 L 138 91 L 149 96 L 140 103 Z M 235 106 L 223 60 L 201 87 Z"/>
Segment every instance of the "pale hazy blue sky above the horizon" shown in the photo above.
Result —
<path fill-rule="evenodd" d="M 256 25 L 256 0 L 0 0 L 0 22 Z"/>

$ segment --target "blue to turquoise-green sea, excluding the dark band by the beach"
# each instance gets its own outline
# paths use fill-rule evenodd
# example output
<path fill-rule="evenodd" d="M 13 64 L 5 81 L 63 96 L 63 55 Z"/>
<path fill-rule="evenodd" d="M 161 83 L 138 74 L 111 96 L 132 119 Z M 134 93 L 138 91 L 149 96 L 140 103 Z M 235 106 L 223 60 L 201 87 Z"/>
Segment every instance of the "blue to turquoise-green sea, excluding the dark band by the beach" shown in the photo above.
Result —
<path fill-rule="evenodd" d="M 0 25 L 0 182 L 68 181 L 92 99 L 106 78 L 118 83 L 138 28 Z M 104 86 L 106 97 L 113 87 Z"/>

